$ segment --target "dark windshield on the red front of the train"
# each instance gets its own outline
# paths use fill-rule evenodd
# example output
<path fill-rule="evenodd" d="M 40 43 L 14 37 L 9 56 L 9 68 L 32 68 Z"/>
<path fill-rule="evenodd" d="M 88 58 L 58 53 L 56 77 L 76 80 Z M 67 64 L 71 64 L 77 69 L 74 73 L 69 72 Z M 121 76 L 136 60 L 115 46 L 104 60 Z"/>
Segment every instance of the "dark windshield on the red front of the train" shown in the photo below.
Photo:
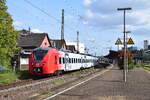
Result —
<path fill-rule="evenodd" d="M 40 62 L 43 57 L 46 55 L 48 50 L 37 50 L 37 51 L 34 51 L 34 58 L 35 58 L 35 61 L 36 62 Z"/>

